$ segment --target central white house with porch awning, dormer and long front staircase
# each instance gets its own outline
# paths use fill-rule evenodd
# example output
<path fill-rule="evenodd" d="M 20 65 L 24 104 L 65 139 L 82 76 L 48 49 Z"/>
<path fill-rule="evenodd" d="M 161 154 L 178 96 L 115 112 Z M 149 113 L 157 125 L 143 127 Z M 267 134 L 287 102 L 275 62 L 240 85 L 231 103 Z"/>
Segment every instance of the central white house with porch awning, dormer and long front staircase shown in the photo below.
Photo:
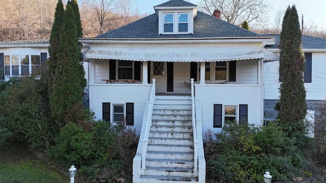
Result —
<path fill-rule="evenodd" d="M 90 109 L 96 119 L 123 121 L 140 134 L 133 182 L 205 182 L 203 133 L 220 132 L 228 120 L 263 123 L 263 61 L 275 58 L 264 46 L 274 36 L 182 0 L 154 10 L 79 39 L 90 45 Z"/>

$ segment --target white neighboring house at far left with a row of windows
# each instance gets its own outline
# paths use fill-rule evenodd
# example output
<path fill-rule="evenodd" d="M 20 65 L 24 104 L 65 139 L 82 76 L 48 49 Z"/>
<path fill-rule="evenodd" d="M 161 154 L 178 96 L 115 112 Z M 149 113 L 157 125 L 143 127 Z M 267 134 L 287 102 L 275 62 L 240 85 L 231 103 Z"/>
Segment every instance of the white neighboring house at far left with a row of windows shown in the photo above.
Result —
<path fill-rule="evenodd" d="M 21 77 L 37 73 L 48 58 L 49 40 L 0 42 L 0 78 Z"/>

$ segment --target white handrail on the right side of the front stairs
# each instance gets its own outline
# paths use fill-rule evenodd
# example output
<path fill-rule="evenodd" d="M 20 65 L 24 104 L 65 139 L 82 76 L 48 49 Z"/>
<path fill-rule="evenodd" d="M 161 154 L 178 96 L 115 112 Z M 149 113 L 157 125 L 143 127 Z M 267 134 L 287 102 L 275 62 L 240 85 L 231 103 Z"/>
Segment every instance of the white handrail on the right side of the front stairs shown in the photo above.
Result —
<path fill-rule="evenodd" d="M 195 108 L 195 87 L 194 78 L 191 78 L 191 92 L 192 92 L 192 123 L 193 123 L 193 134 L 194 134 L 194 171 L 198 170 L 198 140 L 197 140 L 197 129 L 196 129 L 196 108 Z"/>

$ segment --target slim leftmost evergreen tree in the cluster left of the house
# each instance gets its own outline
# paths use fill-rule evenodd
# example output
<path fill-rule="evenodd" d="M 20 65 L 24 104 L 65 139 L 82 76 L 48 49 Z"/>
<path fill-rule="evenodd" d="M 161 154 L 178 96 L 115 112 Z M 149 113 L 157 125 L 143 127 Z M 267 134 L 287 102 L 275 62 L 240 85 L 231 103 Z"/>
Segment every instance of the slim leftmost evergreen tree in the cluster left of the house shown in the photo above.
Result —
<path fill-rule="evenodd" d="M 55 70 L 58 65 L 58 47 L 60 40 L 60 28 L 63 23 L 63 15 L 65 10 L 63 8 L 62 1 L 59 0 L 57 3 L 57 8 L 55 12 L 55 21 L 52 24 L 51 36 L 50 36 L 50 46 L 48 49 L 49 59 L 47 60 L 47 76 L 48 76 L 48 96 L 52 93 L 52 84 L 55 77 Z"/>

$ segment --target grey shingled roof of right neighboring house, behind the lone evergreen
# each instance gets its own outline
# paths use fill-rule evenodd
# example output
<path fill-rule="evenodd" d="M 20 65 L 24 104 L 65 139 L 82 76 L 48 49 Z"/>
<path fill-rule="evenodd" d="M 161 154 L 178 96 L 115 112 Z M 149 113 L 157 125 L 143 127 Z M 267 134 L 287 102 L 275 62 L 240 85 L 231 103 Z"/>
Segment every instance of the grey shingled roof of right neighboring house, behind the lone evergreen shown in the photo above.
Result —
<path fill-rule="evenodd" d="M 275 36 L 276 43 L 265 48 L 278 48 L 280 43 L 280 35 L 264 35 L 264 36 Z M 302 48 L 303 49 L 326 49 L 326 39 L 318 38 L 313 36 L 302 35 Z"/>

